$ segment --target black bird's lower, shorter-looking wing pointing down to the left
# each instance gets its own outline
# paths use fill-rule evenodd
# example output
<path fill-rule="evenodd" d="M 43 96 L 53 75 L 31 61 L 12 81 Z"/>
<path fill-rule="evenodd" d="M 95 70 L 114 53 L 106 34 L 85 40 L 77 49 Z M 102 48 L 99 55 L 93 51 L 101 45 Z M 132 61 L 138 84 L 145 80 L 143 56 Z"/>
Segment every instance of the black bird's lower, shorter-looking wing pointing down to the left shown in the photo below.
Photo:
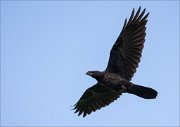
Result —
<path fill-rule="evenodd" d="M 78 116 L 83 113 L 83 117 L 85 117 L 87 114 L 109 105 L 119 96 L 119 92 L 104 86 L 102 83 L 97 83 L 88 88 L 74 105 L 75 113 L 79 112 Z"/>

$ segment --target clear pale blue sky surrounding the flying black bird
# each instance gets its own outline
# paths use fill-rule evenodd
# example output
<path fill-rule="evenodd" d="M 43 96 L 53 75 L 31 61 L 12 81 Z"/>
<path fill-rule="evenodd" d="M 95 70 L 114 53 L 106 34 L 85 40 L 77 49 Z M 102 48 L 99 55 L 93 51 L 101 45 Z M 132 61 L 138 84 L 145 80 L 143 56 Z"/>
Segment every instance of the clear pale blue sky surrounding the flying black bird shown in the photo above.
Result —
<path fill-rule="evenodd" d="M 150 15 L 132 81 L 155 100 L 124 94 L 83 118 L 71 109 L 104 70 L 132 9 Z M 2 126 L 178 126 L 179 1 L 1 1 Z"/>

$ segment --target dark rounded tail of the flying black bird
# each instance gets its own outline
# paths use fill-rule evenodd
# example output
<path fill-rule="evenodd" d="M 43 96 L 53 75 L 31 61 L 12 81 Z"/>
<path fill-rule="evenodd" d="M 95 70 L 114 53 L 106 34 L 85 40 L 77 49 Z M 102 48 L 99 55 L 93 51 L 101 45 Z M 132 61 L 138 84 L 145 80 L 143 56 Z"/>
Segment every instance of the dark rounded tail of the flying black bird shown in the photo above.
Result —
<path fill-rule="evenodd" d="M 158 92 L 152 88 L 144 87 L 136 84 L 130 86 L 127 89 L 127 92 L 142 97 L 144 99 L 155 99 L 158 94 Z"/>

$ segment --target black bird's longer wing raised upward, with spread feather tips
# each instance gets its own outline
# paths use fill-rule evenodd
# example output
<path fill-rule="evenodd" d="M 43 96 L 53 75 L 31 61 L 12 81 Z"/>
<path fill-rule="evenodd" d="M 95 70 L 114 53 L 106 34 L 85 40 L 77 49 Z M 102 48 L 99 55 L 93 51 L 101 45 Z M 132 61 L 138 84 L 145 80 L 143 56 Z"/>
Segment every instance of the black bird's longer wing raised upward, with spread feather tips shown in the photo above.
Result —
<path fill-rule="evenodd" d="M 129 21 L 125 19 L 123 29 L 113 45 L 106 71 L 116 73 L 131 80 L 140 62 L 145 41 L 147 17 L 141 7 L 134 15 L 134 9 Z"/>

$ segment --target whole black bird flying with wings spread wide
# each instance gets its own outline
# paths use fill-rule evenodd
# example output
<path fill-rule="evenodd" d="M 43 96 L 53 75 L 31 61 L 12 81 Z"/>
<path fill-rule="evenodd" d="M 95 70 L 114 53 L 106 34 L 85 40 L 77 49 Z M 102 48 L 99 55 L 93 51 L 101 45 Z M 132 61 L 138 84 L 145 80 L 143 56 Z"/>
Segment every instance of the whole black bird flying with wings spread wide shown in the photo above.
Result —
<path fill-rule="evenodd" d="M 155 99 L 157 91 L 130 82 L 140 62 L 146 36 L 146 23 L 149 13 L 144 16 L 139 7 L 134 9 L 127 22 L 125 19 L 122 31 L 110 51 L 108 66 L 105 71 L 88 71 L 86 74 L 95 78 L 97 83 L 88 88 L 74 105 L 78 116 L 95 112 L 112 103 L 122 93 L 130 93 L 144 99 Z"/>

